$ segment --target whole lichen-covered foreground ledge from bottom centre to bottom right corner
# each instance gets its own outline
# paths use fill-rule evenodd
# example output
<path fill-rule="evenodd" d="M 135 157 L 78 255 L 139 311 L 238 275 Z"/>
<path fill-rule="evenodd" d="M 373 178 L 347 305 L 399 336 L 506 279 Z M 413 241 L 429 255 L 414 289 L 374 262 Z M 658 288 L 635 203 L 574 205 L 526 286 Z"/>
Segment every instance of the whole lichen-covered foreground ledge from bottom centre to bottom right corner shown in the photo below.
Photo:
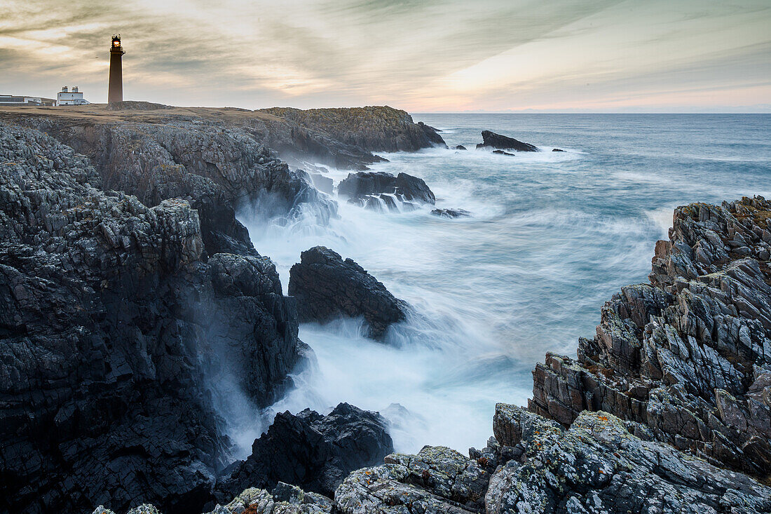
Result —
<path fill-rule="evenodd" d="M 344 514 L 397 512 L 742 512 L 771 509 L 771 488 L 746 475 L 643 441 L 604 412 L 565 429 L 498 404 L 494 438 L 466 458 L 448 448 L 389 455 L 353 472 L 335 492 Z"/>

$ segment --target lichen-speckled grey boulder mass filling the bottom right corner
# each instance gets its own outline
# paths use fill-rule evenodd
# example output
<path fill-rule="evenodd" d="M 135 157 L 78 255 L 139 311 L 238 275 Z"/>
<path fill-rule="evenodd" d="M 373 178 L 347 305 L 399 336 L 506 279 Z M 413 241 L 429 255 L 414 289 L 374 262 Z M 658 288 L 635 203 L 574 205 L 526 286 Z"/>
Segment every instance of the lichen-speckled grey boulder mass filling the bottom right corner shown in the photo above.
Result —
<path fill-rule="evenodd" d="M 524 408 L 498 404 L 496 411 L 501 444 L 524 452 L 490 479 L 489 514 L 771 509 L 771 488 L 672 446 L 642 441 L 612 414 L 584 412 L 565 430 Z"/>

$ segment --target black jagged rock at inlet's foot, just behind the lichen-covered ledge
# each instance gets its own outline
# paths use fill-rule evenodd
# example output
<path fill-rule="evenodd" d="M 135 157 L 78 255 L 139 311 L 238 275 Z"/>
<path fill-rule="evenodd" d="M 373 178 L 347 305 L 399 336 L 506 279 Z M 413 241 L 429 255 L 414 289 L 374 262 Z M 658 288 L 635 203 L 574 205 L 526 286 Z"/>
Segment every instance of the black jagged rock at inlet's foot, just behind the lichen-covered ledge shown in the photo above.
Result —
<path fill-rule="evenodd" d="M 326 416 L 308 409 L 284 412 L 217 485 L 217 496 L 229 501 L 247 486 L 266 489 L 286 482 L 331 497 L 348 473 L 382 462 L 392 451 L 385 419 L 376 412 L 348 404 Z"/>

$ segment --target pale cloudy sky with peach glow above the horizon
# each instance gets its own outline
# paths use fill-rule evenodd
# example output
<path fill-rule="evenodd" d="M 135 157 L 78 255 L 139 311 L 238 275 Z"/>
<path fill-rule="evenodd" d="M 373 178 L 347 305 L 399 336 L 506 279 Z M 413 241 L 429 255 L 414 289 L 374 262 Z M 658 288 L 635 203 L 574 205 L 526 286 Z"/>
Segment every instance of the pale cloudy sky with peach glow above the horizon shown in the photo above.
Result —
<path fill-rule="evenodd" d="M 0 0 L 0 94 L 429 112 L 771 112 L 771 0 Z"/>

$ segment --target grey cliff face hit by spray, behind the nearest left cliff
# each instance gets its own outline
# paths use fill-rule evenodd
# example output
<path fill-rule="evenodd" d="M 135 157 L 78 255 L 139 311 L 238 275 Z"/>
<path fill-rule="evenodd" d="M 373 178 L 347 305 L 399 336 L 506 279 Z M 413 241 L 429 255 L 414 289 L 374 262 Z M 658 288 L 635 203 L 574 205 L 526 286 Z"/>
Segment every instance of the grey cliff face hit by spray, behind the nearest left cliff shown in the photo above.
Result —
<path fill-rule="evenodd" d="M 189 201 L 207 255 L 256 255 L 235 210 L 261 198 L 271 198 L 276 215 L 304 203 L 318 205 L 325 218 L 336 213 L 334 201 L 237 128 L 183 120 L 82 125 L 57 117 L 26 123 L 92 157 L 105 190 L 134 194 L 149 207 L 168 198 Z"/>

